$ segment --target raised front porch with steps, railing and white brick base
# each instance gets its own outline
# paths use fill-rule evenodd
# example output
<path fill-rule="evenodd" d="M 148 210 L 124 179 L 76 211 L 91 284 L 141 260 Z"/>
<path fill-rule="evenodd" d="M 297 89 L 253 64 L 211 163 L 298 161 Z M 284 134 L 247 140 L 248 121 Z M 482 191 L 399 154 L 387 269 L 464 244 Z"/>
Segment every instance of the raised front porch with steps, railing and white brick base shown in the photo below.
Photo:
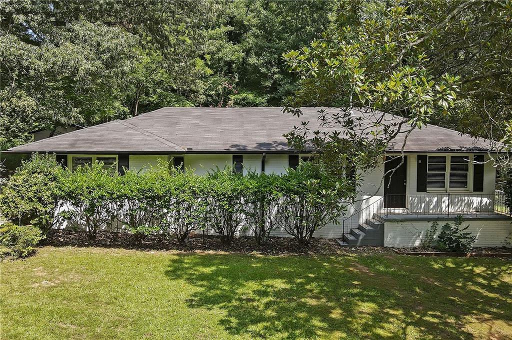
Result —
<path fill-rule="evenodd" d="M 468 231 L 477 235 L 474 246 L 507 246 L 512 218 L 505 195 L 386 194 L 343 220 L 343 245 L 421 246 L 433 222 L 443 225 L 461 215 Z"/>

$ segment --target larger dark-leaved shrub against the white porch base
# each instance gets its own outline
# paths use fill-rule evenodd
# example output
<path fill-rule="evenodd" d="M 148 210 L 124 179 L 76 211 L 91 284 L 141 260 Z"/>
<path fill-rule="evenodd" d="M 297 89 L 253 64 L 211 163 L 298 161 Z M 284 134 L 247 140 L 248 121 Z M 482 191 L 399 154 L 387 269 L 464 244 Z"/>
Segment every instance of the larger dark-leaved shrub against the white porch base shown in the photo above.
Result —
<path fill-rule="evenodd" d="M 446 222 L 441 227 L 441 233 L 437 237 L 436 247 L 444 252 L 468 252 L 471 245 L 475 242 L 476 236 L 472 236 L 469 232 L 464 232 L 469 228 L 466 225 L 461 228 L 463 218 L 461 215 L 455 218 L 453 224 Z"/>

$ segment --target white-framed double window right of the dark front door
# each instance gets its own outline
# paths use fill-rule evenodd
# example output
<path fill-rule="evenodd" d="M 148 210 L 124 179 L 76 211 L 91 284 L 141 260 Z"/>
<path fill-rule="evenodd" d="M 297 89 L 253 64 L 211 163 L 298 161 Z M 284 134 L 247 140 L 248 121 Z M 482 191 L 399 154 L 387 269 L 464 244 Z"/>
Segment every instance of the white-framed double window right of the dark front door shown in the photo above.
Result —
<path fill-rule="evenodd" d="M 429 190 L 468 189 L 470 156 L 429 156 L 426 187 Z"/>

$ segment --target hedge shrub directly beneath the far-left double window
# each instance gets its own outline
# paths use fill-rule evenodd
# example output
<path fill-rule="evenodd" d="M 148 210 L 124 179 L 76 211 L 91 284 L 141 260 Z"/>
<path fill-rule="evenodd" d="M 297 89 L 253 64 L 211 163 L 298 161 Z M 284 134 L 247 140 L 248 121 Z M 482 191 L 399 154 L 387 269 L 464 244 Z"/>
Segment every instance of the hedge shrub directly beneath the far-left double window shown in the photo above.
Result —
<path fill-rule="evenodd" d="M 86 229 L 90 239 L 95 239 L 98 231 L 115 217 L 114 181 L 101 162 L 67 171 L 59 180 L 62 199 L 68 207 L 62 216 Z"/>

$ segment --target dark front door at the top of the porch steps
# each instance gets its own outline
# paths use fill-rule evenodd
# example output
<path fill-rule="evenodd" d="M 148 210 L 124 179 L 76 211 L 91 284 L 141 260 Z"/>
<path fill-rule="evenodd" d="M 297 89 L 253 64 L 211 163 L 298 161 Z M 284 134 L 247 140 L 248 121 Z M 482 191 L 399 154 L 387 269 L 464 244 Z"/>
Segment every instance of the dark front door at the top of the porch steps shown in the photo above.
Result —
<path fill-rule="evenodd" d="M 384 205 L 386 208 L 406 207 L 407 156 L 386 157 L 384 164 Z"/>

